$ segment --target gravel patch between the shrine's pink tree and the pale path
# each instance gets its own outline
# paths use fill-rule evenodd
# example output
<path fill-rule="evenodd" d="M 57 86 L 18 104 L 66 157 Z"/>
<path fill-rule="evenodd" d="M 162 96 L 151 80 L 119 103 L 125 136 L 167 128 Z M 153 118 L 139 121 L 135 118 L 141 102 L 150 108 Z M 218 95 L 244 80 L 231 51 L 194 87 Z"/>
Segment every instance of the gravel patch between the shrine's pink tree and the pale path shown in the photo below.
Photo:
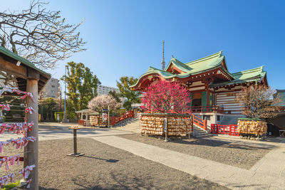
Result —
<path fill-rule="evenodd" d="M 140 134 L 120 135 L 125 139 L 131 139 L 153 146 L 171 149 L 173 151 L 189 154 L 215 162 L 250 169 L 265 154 L 274 148 L 272 145 L 258 144 L 254 142 L 242 142 L 240 140 L 224 139 L 175 139 L 165 142 L 157 137 L 140 136 Z"/>

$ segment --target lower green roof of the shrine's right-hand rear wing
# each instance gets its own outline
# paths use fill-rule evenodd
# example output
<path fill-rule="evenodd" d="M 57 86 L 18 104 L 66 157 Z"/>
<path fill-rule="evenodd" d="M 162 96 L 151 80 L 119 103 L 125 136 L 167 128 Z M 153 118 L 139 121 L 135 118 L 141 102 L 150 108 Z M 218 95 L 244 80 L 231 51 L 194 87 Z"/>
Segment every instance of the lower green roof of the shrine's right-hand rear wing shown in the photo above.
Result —
<path fill-rule="evenodd" d="M 223 83 L 216 83 L 210 85 L 210 87 L 217 87 L 222 85 L 233 85 L 237 83 L 249 83 L 254 81 L 259 81 L 266 76 L 266 71 L 264 71 L 264 66 L 259 68 L 252 68 L 249 70 L 244 70 L 237 73 L 232 73 L 234 80 L 230 80 Z"/>

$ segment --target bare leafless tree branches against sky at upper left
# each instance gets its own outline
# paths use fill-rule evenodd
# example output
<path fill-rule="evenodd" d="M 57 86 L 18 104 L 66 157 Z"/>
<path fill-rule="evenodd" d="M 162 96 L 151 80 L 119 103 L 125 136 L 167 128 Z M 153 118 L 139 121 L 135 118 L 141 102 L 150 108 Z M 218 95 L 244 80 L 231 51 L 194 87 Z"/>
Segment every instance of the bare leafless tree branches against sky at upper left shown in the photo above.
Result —
<path fill-rule="evenodd" d="M 85 51 L 85 41 L 76 32 L 81 23 L 70 25 L 60 11 L 48 11 L 46 2 L 31 1 L 21 12 L 0 13 L 0 43 L 39 68 L 54 68 L 58 60 Z"/>

